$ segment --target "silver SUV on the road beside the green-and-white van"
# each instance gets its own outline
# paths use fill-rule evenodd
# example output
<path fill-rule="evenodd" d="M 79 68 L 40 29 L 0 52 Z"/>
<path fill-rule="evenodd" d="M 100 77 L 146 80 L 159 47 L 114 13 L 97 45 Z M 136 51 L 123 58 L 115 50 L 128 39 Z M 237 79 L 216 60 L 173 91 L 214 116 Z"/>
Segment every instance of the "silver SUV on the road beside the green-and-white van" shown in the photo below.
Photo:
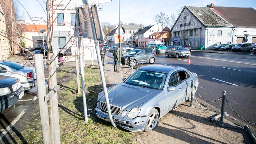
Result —
<path fill-rule="evenodd" d="M 166 57 L 170 55 L 176 56 L 176 58 L 180 57 L 189 57 L 191 55 L 189 50 L 184 49 L 182 46 L 167 46 L 165 49 Z"/>

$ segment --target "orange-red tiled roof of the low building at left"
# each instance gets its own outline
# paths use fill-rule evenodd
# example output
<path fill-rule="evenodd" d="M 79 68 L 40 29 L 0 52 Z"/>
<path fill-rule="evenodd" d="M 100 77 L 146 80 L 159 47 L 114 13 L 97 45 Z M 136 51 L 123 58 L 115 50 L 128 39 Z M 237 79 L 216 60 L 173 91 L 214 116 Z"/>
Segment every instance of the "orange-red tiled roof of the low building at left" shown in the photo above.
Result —
<path fill-rule="evenodd" d="M 18 24 L 18 27 L 22 29 L 22 32 L 24 33 L 32 33 L 32 32 L 38 32 L 40 30 L 47 30 L 46 25 L 25 25 L 25 24 Z"/>

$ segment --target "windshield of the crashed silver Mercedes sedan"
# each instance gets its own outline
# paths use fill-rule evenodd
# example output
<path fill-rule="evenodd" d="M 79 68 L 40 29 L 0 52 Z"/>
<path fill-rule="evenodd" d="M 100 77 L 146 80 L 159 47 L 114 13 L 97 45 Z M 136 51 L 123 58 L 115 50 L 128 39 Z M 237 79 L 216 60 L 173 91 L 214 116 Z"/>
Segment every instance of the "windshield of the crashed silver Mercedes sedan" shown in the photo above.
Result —
<path fill-rule="evenodd" d="M 150 89 L 162 90 L 166 75 L 167 74 L 165 73 L 154 71 L 137 70 L 129 78 L 127 78 L 124 83 Z"/>

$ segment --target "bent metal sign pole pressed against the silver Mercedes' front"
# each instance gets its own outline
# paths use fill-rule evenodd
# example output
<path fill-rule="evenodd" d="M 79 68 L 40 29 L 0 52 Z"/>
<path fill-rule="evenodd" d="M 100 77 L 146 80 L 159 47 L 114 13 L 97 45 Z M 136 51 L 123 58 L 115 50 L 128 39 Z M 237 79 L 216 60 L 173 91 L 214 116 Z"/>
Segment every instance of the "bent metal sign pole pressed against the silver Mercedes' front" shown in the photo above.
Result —
<path fill-rule="evenodd" d="M 84 2 L 86 2 L 86 3 L 84 3 Z M 87 0 L 83 0 L 83 4 L 87 4 Z M 90 6 L 88 6 L 88 11 L 89 11 L 89 15 L 92 15 L 92 8 Z M 98 11 L 97 11 L 97 13 L 98 13 Z M 99 69 L 100 69 L 100 76 L 101 76 L 102 86 L 103 86 L 104 95 L 105 95 L 105 99 L 106 99 L 106 105 L 107 105 L 107 110 L 108 110 L 108 117 L 109 117 L 109 120 L 110 120 L 111 124 L 114 127 L 116 127 L 116 124 L 113 121 L 111 110 L 110 110 L 110 104 L 109 104 L 109 99 L 108 99 L 106 81 L 105 81 L 105 76 L 104 76 L 104 72 L 103 72 L 103 66 L 102 66 L 101 57 L 100 57 L 100 46 L 99 46 L 99 42 L 97 40 L 97 35 L 96 35 L 93 15 L 90 17 L 90 22 L 91 22 L 92 33 L 93 33 L 93 38 L 94 38 L 94 44 L 95 44 L 95 49 L 96 49 L 96 54 L 97 54 L 97 59 L 98 59 L 98 64 L 99 64 Z"/>

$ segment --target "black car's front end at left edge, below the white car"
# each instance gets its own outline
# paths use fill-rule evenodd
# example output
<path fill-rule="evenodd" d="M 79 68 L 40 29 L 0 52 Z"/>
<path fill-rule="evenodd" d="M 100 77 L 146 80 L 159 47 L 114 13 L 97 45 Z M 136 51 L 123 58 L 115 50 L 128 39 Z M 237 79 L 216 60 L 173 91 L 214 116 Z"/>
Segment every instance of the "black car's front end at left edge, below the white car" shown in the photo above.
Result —
<path fill-rule="evenodd" d="M 0 75 L 0 112 L 13 106 L 23 96 L 24 89 L 18 78 Z"/>

